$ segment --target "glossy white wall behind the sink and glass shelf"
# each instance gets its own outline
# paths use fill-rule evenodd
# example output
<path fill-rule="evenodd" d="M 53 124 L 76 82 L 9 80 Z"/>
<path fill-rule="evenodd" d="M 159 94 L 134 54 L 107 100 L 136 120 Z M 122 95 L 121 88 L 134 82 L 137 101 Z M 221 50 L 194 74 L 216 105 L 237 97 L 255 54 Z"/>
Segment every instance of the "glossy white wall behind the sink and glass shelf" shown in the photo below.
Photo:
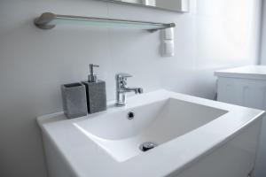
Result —
<path fill-rule="evenodd" d="M 62 111 L 59 85 L 87 78 L 89 64 L 114 98 L 114 73 L 129 85 L 213 98 L 213 71 L 257 63 L 261 0 L 191 0 L 189 14 L 90 0 L 0 0 L 0 176 L 46 176 L 35 117 Z M 198 3 L 197 3 L 198 2 Z M 176 22 L 173 58 L 159 33 L 60 26 L 41 30 L 41 12 Z M 90 158 L 90 157 L 88 157 Z"/>

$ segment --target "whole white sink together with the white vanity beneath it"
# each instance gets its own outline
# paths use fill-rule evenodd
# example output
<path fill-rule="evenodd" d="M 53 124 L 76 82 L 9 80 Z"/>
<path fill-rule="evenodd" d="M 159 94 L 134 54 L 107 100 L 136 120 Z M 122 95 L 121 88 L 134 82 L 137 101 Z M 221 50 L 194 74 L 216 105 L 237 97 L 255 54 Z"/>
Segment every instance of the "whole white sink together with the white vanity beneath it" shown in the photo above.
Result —
<path fill-rule="evenodd" d="M 254 168 L 262 111 L 167 90 L 113 103 L 78 119 L 37 119 L 51 177 L 243 177 Z M 144 152 L 143 142 L 158 146 Z"/>

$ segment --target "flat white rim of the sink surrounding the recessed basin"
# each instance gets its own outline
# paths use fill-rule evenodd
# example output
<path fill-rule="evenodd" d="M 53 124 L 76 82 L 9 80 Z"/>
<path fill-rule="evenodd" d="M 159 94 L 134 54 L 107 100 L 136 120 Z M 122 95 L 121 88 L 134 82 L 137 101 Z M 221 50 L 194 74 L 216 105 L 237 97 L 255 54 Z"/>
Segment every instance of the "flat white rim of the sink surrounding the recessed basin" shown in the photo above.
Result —
<path fill-rule="evenodd" d="M 138 103 L 153 103 L 160 100 L 161 97 L 173 97 L 186 102 L 207 105 L 226 110 L 228 113 L 192 132 L 165 142 L 154 150 L 146 151 L 124 162 L 115 161 L 106 154 L 105 150 L 99 148 L 96 143 L 73 126 L 74 122 L 95 117 L 101 112 L 77 119 L 66 119 L 65 115 L 59 112 L 39 117 L 37 121 L 43 134 L 51 139 L 76 176 L 159 177 L 181 171 L 195 159 L 222 145 L 255 119 L 262 118 L 263 114 L 260 110 L 177 94 L 163 89 L 129 97 L 126 108 L 132 105 L 136 106 Z M 109 104 L 113 104 L 113 102 Z M 126 108 L 111 107 L 106 112 L 116 112 Z"/>

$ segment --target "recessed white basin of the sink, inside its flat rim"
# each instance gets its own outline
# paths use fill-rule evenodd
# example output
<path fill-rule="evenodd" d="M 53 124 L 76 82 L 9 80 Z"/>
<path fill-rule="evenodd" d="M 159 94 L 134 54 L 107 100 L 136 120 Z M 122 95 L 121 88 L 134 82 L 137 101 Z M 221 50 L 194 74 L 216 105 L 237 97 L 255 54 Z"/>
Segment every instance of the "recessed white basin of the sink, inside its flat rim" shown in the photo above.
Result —
<path fill-rule="evenodd" d="M 128 119 L 129 112 L 134 112 L 134 119 Z M 115 160 L 122 162 L 141 154 L 139 146 L 143 142 L 161 145 L 226 112 L 168 98 L 99 116 L 97 119 L 82 120 L 74 123 L 74 126 L 98 143 Z"/>

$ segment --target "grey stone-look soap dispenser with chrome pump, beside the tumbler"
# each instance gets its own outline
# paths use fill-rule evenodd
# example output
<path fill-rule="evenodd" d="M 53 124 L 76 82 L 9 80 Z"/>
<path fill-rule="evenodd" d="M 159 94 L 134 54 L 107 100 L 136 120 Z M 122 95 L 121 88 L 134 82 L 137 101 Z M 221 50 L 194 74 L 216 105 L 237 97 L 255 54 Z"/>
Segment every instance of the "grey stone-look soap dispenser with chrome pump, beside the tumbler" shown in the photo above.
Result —
<path fill-rule="evenodd" d="M 86 87 L 89 113 L 106 111 L 106 81 L 98 80 L 97 75 L 93 71 L 94 67 L 99 67 L 99 65 L 90 64 L 88 81 L 82 82 Z"/>

